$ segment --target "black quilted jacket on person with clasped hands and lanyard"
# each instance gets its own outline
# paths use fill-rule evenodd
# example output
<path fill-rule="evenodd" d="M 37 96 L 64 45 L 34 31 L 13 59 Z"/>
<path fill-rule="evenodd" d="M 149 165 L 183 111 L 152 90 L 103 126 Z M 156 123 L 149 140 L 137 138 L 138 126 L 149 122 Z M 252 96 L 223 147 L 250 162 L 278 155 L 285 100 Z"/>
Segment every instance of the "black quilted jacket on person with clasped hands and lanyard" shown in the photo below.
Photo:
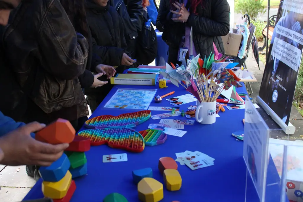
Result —
<path fill-rule="evenodd" d="M 180 3 L 182 3 L 181 0 Z M 190 1 L 186 5 L 189 8 Z M 174 54 L 178 54 L 181 38 L 185 33 L 185 26 L 193 27 L 193 42 L 197 54 L 201 58 L 214 52 L 213 42 L 218 51 L 224 54 L 224 47 L 221 36 L 229 32 L 229 12 L 230 8 L 226 0 L 205 0 L 197 7 L 198 15 L 190 9 L 190 15 L 186 23 L 176 23 L 171 20 L 175 10 L 169 0 L 161 0 L 157 17 L 156 27 L 163 32 L 163 40 L 170 46 L 170 50 L 175 49 Z M 170 53 L 171 56 L 171 53 Z M 173 56 L 177 58 L 177 55 Z"/>

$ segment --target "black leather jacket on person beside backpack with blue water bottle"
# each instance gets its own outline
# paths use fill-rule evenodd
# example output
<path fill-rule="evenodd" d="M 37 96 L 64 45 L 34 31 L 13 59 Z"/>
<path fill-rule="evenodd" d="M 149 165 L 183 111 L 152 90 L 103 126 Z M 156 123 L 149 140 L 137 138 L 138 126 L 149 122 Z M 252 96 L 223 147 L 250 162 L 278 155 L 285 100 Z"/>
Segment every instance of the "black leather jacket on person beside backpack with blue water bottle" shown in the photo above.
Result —
<path fill-rule="evenodd" d="M 142 0 L 109 0 L 109 2 L 123 18 L 127 50 L 135 59 L 138 32 L 142 30 L 143 26 Z"/>

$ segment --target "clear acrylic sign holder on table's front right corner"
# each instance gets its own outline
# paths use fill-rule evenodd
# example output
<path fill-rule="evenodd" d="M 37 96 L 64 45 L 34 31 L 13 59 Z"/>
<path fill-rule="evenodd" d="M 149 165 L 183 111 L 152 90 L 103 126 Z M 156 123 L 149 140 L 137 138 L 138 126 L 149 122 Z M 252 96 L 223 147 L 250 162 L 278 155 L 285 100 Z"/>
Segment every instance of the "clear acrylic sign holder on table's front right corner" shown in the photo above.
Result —
<path fill-rule="evenodd" d="M 272 145 L 277 144 L 273 138 L 282 132 L 282 129 L 269 129 L 253 103 L 246 97 L 243 145 L 243 158 L 247 167 L 245 202 L 289 201 L 285 190 L 286 156 L 293 145 L 289 145 L 290 141 L 285 141 L 285 144 L 279 142 L 279 146 L 276 146 L 280 149 L 278 154 L 274 154 L 272 150 Z M 296 147 L 302 146 L 296 145 Z M 301 157 L 303 158 L 303 153 Z M 303 165 L 301 166 L 303 168 Z M 302 169 L 301 172 L 303 172 Z M 296 194 L 301 194 L 301 192 Z"/>

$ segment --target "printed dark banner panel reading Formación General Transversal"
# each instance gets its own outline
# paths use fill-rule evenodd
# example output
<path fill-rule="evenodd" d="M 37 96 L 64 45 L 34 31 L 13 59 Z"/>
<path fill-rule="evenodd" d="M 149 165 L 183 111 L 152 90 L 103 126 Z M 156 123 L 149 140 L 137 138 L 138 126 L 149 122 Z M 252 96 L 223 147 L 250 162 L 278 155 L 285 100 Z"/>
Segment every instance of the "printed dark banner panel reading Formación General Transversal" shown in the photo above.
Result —
<path fill-rule="evenodd" d="M 303 0 L 285 0 L 272 35 L 259 97 L 288 125 L 303 48 Z M 278 16 L 279 17 L 279 16 Z"/>

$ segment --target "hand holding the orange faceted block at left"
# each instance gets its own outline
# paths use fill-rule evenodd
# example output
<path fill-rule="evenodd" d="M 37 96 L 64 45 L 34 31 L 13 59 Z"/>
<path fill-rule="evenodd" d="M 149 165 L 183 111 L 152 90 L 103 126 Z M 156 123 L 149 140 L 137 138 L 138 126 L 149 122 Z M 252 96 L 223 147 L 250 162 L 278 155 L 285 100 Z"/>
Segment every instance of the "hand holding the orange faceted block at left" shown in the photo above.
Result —
<path fill-rule="evenodd" d="M 4 158 L 0 163 L 9 166 L 49 166 L 57 161 L 69 144 L 52 145 L 31 137 L 32 132 L 44 127 L 45 124 L 32 122 L 1 137 L 0 148 L 4 153 Z"/>

